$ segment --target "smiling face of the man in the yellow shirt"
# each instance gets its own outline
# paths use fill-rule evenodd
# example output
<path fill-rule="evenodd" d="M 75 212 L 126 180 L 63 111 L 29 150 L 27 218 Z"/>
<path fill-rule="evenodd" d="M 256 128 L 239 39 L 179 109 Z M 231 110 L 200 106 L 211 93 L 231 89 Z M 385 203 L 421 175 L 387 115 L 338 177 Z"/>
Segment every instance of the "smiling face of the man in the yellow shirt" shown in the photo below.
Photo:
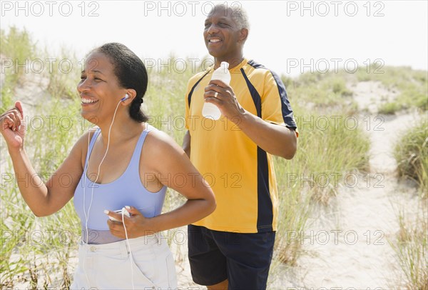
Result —
<path fill-rule="evenodd" d="M 232 18 L 233 11 L 215 7 L 205 19 L 203 37 L 210 55 L 218 59 L 240 58 L 243 45 L 241 29 Z"/>

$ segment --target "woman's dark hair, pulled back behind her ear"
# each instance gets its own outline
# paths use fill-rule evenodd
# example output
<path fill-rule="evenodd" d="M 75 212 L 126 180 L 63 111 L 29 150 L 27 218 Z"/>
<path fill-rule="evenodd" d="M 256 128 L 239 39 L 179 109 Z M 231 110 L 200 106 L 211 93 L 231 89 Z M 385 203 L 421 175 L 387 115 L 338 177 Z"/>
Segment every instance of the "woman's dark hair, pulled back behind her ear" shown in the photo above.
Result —
<path fill-rule="evenodd" d="M 106 54 L 114 67 L 114 74 L 119 85 L 126 89 L 135 89 L 137 95 L 129 108 L 131 118 L 138 122 L 146 122 L 148 117 L 141 111 L 143 96 L 147 91 L 148 76 L 143 61 L 131 49 L 116 42 L 103 44 L 91 52 Z"/>

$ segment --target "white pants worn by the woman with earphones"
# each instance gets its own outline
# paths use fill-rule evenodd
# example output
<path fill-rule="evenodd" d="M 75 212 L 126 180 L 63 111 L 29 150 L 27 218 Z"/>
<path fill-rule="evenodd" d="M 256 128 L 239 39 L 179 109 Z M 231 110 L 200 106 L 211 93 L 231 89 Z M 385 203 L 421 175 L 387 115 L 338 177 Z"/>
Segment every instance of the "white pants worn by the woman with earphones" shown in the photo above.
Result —
<path fill-rule="evenodd" d="M 70 289 L 177 288 L 174 259 L 165 239 L 153 234 L 128 241 L 133 259 L 126 240 L 111 244 L 81 241 Z"/>

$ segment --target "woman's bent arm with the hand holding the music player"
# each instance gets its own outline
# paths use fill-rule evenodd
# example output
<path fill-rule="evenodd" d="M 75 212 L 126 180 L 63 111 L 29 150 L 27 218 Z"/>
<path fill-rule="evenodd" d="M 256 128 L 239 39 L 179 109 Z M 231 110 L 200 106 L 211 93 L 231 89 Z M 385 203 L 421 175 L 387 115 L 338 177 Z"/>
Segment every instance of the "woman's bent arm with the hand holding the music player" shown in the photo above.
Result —
<path fill-rule="evenodd" d="M 165 186 L 178 191 L 188 200 L 185 203 L 165 214 L 153 218 L 145 218 L 141 213 L 131 206 L 131 218 L 124 217 L 128 238 L 135 238 L 154 232 L 173 229 L 178 226 L 191 224 L 203 219 L 215 210 L 215 198 L 210 186 L 203 179 L 195 166 L 190 163 L 183 149 L 173 141 L 167 134 L 161 131 L 152 131 L 146 139 L 150 154 L 144 154 L 147 164 L 151 166 L 154 176 Z M 150 172 L 152 174 L 152 172 Z M 180 184 L 175 184 L 177 176 L 180 176 Z M 185 177 L 185 182 L 183 181 Z M 120 214 L 108 213 L 116 219 L 121 220 Z M 125 238 L 123 224 L 108 221 L 111 233 L 115 236 Z"/>

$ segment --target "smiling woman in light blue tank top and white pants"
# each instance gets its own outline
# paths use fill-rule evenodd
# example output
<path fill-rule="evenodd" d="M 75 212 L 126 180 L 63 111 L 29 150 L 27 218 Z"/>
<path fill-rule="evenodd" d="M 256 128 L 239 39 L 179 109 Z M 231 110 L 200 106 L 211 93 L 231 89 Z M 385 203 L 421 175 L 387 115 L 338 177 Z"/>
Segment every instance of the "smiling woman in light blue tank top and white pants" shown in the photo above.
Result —
<path fill-rule="evenodd" d="M 172 255 L 155 233 L 198 221 L 215 209 L 213 192 L 180 146 L 146 124 L 140 106 L 147 82 L 143 62 L 123 44 L 91 51 L 77 89 L 83 118 L 98 129 L 81 136 L 46 184 L 25 151 L 21 103 L 1 116 L 17 176 L 33 179 L 17 179 L 31 211 L 48 216 L 74 197 L 82 241 L 71 289 L 174 289 Z M 61 186 L 62 174 L 71 176 L 71 186 Z M 180 184 L 174 184 L 176 176 Z M 161 214 L 165 186 L 188 200 Z"/>

